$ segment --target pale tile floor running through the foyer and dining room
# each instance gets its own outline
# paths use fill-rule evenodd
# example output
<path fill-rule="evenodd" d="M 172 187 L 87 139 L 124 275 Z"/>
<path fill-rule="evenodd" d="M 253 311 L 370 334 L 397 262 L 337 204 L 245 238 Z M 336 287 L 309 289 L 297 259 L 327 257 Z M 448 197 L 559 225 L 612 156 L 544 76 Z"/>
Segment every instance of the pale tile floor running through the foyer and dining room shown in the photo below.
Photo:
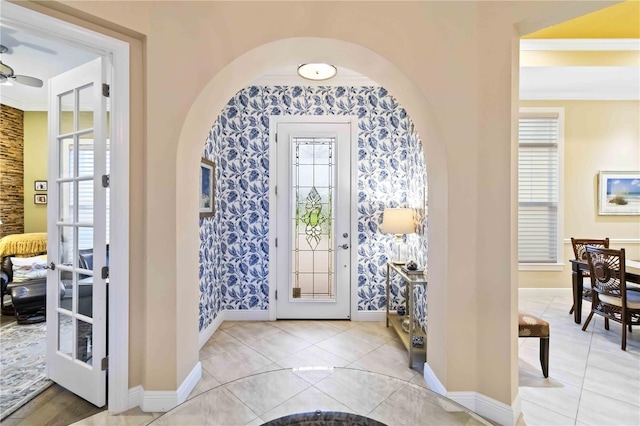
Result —
<path fill-rule="evenodd" d="M 520 292 L 520 309 L 549 321 L 551 343 L 545 379 L 538 339 L 519 341 L 518 425 L 640 425 L 640 330 L 628 335 L 626 352 L 617 324 L 606 331 L 594 317 L 583 332 L 565 290 Z M 584 306 L 583 321 L 587 314 Z M 224 322 L 200 361 L 202 379 L 173 411 L 102 412 L 76 424 L 260 425 L 319 406 L 388 425 L 478 424 L 460 413 L 434 417 L 444 410 L 425 389 L 421 362 L 405 367 L 406 352 L 384 323 Z"/>

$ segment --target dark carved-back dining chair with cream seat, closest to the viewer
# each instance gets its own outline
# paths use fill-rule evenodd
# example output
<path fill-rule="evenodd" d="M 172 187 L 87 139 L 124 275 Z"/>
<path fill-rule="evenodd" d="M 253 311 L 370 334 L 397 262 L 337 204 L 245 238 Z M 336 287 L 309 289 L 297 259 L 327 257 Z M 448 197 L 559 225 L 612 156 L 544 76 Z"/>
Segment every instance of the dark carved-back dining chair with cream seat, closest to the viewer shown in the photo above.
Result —
<path fill-rule="evenodd" d="M 627 327 L 640 325 L 640 292 L 627 291 L 624 249 L 606 249 L 587 246 L 587 261 L 591 276 L 591 312 L 582 327 L 585 331 L 593 314 L 604 317 L 604 328 L 609 320 L 622 325 L 622 350 L 627 349 Z"/>

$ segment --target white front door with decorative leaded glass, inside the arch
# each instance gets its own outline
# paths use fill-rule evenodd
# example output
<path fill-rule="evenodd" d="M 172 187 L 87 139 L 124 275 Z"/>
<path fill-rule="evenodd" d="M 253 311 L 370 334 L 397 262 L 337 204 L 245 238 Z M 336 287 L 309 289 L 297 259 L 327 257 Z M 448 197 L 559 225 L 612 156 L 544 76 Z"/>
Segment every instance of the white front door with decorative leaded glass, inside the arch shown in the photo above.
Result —
<path fill-rule="evenodd" d="M 276 122 L 277 318 L 350 318 L 352 124 L 327 121 Z"/>

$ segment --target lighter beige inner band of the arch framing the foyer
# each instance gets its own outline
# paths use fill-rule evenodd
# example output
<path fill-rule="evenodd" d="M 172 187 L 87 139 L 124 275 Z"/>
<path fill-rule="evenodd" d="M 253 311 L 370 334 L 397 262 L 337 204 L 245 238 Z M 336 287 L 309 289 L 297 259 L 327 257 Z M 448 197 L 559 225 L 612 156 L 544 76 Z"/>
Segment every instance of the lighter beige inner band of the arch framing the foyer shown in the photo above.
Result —
<path fill-rule="evenodd" d="M 309 54 L 309 52 L 313 52 Z M 188 271 L 181 279 L 188 285 L 181 286 L 180 293 L 188 298 L 188 312 L 181 312 L 181 321 L 189 321 L 197 330 L 199 299 L 198 286 L 198 181 L 203 141 L 219 114 L 238 90 L 248 86 L 256 77 L 268 70 L 284 66 L 294 67 L 300 61 L 324 61 L 337 66 L 366 73 L 374 81 L 392 93 L 411 117 L 415 132 L 420 135 L 429 182 L 429 276 L 430 280 L 446 282 L 447 255 L 447 160 L 441 139 L 435 129 L 433 114 L 420 90 L 406 75 L 375 52 L 339 40 L 319 38 L 295 38 L 280 40 L 255 48 L 237 58 L 212 78 L 191 107 L 182 127 L 177 158 L 177 187 L 188 190 L 177 192 L 176 220 L 180 224 L 177 233 L 177 263 Z M 431 179 L 433 176 L 433 180 Z M 433 184 L 432 184 L 433 182 Z M 433 227 L 431 229 L 431 227 Z M 186 266 L 186 267 L 185 267 Z M 191 272 L 193 271 L 193 272 Z M 185 293 L 186 292 L 186 293 Z M 185 299 L 187 300 L 187 299 Z M 180 305 L 180 309 L 187 309 Z M 187 323 L 184 323 L 187 326 Z M 203 343 L 203 342 L 201 342 Z"/>

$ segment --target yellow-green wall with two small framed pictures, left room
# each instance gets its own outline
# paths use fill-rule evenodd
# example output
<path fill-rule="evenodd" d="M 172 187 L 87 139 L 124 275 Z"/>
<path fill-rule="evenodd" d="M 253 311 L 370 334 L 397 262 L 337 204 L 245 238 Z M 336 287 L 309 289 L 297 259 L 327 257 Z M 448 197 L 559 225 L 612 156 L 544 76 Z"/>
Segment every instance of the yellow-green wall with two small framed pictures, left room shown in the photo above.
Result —
<path fill-rule="evenodd" d="M 34 204 L 35 180 L 48 180 L 47 112 L 24 113 L 24 232 L 47 232 L 47 205 Z M 48 192 L 38 191 L 38 194 Z"/>

